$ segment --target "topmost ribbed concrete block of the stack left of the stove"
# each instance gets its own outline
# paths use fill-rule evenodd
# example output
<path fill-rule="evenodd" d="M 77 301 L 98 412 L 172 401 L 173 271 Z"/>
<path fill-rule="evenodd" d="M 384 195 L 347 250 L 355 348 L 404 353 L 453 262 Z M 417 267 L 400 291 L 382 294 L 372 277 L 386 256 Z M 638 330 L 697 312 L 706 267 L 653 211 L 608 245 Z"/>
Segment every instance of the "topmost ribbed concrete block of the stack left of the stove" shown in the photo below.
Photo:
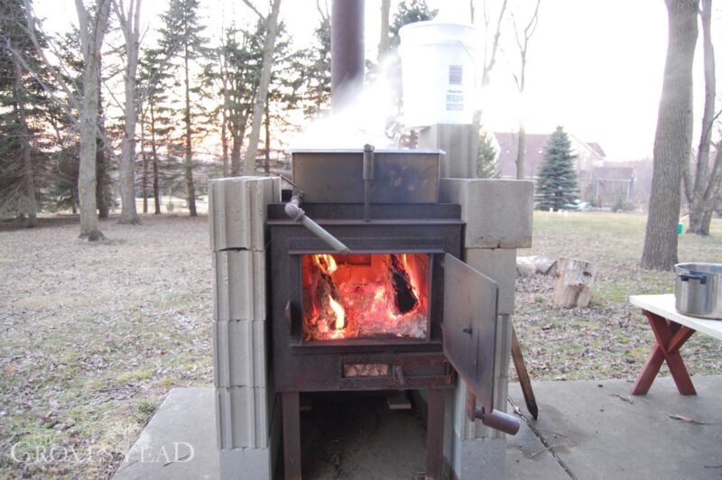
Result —
<path fill-rule="evenodd" d="M 264 250 L 266 207 L 280 201 L 280 177 L 208 180 L 210 249 Z"/>

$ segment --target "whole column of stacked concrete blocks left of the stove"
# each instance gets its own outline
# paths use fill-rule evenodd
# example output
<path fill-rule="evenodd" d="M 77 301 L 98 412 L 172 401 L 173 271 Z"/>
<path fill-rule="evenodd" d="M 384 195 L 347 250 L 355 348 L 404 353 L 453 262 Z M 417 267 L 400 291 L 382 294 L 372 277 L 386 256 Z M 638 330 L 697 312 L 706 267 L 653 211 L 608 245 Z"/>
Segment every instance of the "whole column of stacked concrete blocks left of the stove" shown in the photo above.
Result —
<path fill-rule="evenodd" d="M 208 182 L 220 477 L 272 478 L 280 408 L 268 375 L 265 219 L 281 179 Z"/>

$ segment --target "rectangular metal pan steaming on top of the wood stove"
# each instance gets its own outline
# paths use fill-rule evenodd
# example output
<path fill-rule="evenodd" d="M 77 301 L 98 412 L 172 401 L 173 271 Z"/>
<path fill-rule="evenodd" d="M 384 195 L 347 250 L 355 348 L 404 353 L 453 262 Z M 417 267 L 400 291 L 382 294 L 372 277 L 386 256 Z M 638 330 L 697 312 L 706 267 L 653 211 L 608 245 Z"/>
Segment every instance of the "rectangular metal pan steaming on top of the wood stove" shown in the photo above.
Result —
<path fill-rule="evenodd" d="M 292 150 L 293 181 L 308 203 L 363 203 L 364 150 Z M 437 203 L 441 150 L 374 152 L 371 203 Z"/>

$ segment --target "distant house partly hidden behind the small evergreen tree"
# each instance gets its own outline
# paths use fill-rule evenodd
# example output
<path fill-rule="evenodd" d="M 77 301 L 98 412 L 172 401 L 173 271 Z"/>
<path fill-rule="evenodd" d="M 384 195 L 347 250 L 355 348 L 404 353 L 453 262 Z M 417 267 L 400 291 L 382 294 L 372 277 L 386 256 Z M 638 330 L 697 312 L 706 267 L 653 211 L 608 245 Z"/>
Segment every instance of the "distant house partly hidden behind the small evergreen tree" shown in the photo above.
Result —
<path fill-rule="evenodd" d="M 516 178 L 517 133 L 494 134 L 498 152 L 498 166 L 504 179 Z M 534 180 L 543 162 L 544 147 L 551 134 L 526 134 L 524 148 L 524 179 Z M 577 155 L 575 166 L 579 180 L 579 197 L 599 207 L 630 202 L 634 191 L 634 168 L 616 166 L 606 161 L 606 153 L 596 142 L 582 142 L 569 134 L 572 152 Z"/>

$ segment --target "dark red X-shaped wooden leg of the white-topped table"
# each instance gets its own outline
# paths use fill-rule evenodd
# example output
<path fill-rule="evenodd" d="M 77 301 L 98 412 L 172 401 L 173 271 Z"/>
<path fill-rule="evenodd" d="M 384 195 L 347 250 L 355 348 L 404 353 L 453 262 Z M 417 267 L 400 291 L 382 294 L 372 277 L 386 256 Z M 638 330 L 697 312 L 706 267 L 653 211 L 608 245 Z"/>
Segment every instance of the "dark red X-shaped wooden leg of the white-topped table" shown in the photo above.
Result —
<path fill-rule="evenodd" d="M 682 395 L 696 395 L 697 392 L 694 390 L 690 374 L 687 373 L 687 367 L 684 366 L 680 355 L 680 347 L 692 336 L 694 330 L 652 312 L 646 310 L 642 310 L 642 312 L 649 320 L 656 341 L 652 348 L 652 354 L 649 355 L 642 367 L 642 372 L 637 376 L 632 394 L 645 395 L 649 392 L 654 378 L 660 372 L 662 362 L 666 360 L 677 390 Z"/>

